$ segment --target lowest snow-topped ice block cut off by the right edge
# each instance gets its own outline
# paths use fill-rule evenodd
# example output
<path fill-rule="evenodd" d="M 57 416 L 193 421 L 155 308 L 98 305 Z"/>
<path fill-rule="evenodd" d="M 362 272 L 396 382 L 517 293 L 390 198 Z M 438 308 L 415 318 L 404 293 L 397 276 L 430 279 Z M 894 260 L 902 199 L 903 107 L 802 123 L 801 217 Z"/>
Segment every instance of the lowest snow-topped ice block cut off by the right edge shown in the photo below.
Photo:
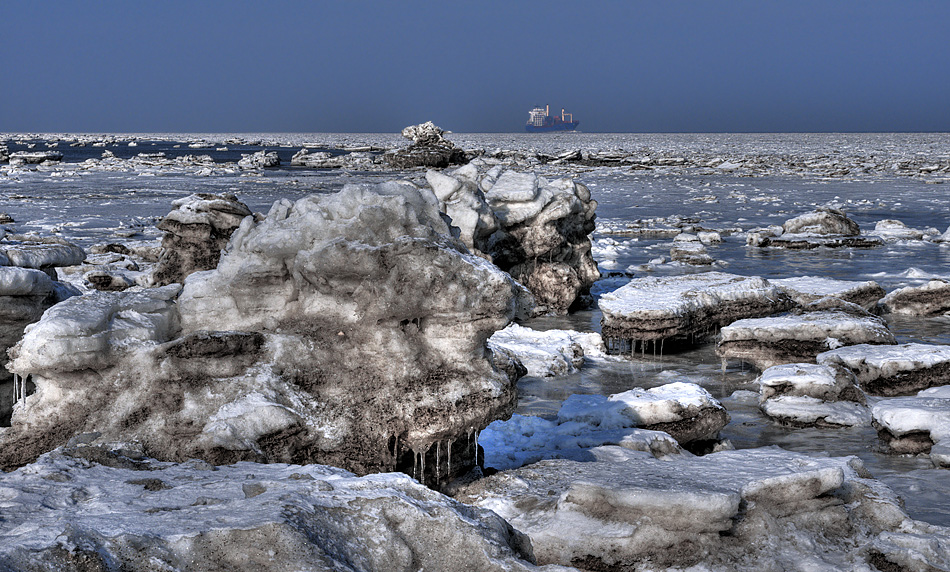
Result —
<path fill-rule="evenodd" d="M 950 387 L 882 400 L 871 416 L 888 452 L 929 453 L 935 465 L 950 468 Z"/>

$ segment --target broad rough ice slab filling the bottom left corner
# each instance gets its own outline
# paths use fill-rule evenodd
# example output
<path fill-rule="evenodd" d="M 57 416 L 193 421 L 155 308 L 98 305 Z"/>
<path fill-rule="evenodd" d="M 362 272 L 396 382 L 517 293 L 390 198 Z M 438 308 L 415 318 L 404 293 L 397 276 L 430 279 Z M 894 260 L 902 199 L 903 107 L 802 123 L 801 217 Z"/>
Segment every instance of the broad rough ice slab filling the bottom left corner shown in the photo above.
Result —
<path fill-rule="evenodd" d="M 0 475 L 0 569 L 528 571 L 496 514 L 402 474 L 162 463 L 76 443 Z"/>

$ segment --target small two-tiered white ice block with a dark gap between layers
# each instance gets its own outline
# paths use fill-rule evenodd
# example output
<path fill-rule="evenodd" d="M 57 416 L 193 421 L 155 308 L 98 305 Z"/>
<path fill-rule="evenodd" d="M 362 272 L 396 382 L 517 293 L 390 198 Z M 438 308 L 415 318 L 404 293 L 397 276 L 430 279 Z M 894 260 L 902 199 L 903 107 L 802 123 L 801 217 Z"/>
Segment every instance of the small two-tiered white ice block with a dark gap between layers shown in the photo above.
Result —
<path fill-rule="evenodd" d="M 843 367 L 792 363 L 756 380 L 762 412 L 795 426 L 867 426 L 871 417 L 854 374 Z"/>

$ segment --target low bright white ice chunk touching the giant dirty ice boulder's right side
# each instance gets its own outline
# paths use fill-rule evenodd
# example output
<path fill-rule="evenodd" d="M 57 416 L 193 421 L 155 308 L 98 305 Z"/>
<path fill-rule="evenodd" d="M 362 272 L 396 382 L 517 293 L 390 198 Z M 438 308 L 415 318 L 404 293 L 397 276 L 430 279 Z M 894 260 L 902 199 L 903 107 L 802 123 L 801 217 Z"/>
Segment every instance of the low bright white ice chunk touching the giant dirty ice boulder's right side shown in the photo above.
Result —
<path fill-rule="evenodd" d="M 488 347 L 517 359 L 535 377 L 573 373 L 584 365 L 585 355 L 602 356 L 604 342 L 598 333 L 573 330 L 538 331 L 511 324 L 488 338 Z"/>

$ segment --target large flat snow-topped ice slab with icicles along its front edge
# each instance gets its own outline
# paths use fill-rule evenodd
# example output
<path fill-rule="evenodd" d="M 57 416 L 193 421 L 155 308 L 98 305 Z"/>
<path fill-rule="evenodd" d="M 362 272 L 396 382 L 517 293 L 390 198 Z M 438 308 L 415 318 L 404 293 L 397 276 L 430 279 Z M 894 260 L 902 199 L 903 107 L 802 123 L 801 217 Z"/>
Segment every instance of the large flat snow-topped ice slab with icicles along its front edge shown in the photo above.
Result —
<path fill-rule="evenodd" d="M 631 280 L 599 301 L 608 349 L 625 353 L 637 342 L 704 337 L 739 318 L 787 310 L 792 301 L 757 276 L 706 272 Z"/>

